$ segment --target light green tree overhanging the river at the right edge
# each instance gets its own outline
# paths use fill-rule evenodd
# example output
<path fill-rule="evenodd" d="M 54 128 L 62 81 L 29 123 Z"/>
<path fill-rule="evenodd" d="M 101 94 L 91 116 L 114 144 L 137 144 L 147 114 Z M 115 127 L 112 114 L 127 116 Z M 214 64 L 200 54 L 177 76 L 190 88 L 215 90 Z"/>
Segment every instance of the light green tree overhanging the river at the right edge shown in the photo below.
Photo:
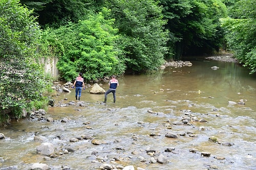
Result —
<path fill-rule="evenodd" d="M 222 18 L 229 50 L 251 71 L 256 71 L 256 1 L 240 0 L 230 7 L 229 16 Z"/>

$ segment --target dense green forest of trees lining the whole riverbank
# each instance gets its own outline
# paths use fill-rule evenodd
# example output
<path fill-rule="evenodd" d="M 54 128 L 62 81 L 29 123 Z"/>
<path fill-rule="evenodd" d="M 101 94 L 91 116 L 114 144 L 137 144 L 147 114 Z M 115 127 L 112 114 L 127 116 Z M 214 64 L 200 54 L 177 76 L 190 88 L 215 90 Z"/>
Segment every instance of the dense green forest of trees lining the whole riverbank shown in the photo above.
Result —
<path fill-rule="evenodd" d="M 234 54 L 256 71 L 255 0 L 2 0 L 0 122 L 48 104 L 59 79 L 141 74 L 183 56 Z"/>

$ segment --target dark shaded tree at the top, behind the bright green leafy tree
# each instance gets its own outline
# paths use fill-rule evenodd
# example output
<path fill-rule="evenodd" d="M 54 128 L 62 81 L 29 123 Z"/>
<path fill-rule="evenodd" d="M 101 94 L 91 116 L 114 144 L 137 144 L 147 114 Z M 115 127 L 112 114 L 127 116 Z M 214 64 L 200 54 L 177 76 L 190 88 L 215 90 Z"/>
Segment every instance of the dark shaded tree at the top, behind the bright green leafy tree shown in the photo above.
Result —
<path fill-rule="evenodd" d="M 47 26 L 58 28 L 71 22 L 78 22 L 91 11 L 96 10 L 96 5 L 101 1 L 92 0 L 20 0 L 29 9 L 34 10 L 42 28 Z"/>

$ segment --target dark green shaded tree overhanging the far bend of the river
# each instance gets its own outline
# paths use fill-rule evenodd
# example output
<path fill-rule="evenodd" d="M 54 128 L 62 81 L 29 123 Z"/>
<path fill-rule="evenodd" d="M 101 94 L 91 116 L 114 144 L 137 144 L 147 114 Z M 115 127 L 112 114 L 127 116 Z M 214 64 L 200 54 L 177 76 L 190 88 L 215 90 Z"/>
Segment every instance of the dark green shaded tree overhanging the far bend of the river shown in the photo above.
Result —
<path fill-rule="evenodd" d="M 222 46 L 224 31 L 219 18 L 225 17 L 227 12 L 220 0 L 161 0 L 160 5 L 168 20 L 168 46 L 175 59 L 183 55 L 212 53 Z"/>

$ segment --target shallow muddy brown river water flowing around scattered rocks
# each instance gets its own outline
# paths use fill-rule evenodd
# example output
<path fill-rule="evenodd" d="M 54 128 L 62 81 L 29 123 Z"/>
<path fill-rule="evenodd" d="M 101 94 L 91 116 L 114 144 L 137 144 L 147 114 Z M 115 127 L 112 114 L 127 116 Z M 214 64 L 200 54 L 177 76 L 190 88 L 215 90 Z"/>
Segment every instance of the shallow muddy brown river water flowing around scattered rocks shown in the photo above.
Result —
<path fill-rule="evenodd" d="M 115 104 L 112 94 L 108 95 L 107 105 L 102 105 L 103 94 L 90 94 L 86 89 L 81 96 L 86 107 L 49 107 L 46 117 L 54 118 L 54 122 L 19 120 L 1 128 L 6 138 L 0 140 L 0 166 L 29 169 L 32 163 L 40 162 L 51 169 L 65 165 L 71 169 L 99 169 L 103 163 L 115 165 L 110 161 L 116 157 L 117 165 L 133 165 L 135 169 L 256 169 L 255 75 L 248 75 L 249 70 L 234 63 L 203 58 L 190 61 L 191 67 L 166 67 L 150 75 L 120 78 Z M 212 70 L 211 66 L 220 68 Z M 108 89 L 107 84 L 102 87 Z M 56 103 L 75 101 L 74 95 L 73 89 L 62 93 Z M 228 105 L 228 101 L 240 100 L 245 105 Z M 173 125 L 186 114 L 207 122 Z M 61 123 L 63 117 L 70 121 Z M 179 136 L 167 138 L 167 132 Z M 53 143 L 57 157 L 45 160 L 38 155 L 36 147 L 41 142 L 34 141 L 35 135 Z M 103 144 L 94 145 L 85 139 L 69 141 L 81 135 L 92 136 Z M 217 137 L 220 144 L 209 141 L 210 136 Z M 75 152 L 59 155 L 66 147 Z M 165 152 L 167 148 L 175 150 Z M 155 150 L 156 158 L 164 155 L 168 163 L 150 163 L 147 149 Z M 202 157 L 202 152 L 211 155 Z M 95 155 L 104 159 L 98 161 Z"/>

